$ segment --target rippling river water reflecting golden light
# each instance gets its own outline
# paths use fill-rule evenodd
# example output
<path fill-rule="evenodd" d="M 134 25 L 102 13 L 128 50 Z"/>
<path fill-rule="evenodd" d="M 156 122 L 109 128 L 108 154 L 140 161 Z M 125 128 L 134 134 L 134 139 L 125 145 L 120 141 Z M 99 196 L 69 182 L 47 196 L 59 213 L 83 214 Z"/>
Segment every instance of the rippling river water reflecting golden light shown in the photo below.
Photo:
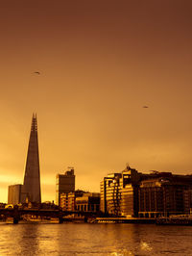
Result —
<path fill-rule="evenodd" d="M 0 255 L 192 255 L 192 227 L 1 223 Z"/>

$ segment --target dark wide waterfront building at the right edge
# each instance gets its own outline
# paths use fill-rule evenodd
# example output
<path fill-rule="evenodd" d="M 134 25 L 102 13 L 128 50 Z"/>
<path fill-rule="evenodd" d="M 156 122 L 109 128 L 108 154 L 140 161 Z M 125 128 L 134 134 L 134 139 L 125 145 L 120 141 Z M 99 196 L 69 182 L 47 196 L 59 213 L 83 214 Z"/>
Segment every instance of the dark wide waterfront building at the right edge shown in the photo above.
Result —
<path fill-rule="evenodd" d="M 138 216 L 189 214 L 192 207 L 192 176 L 156 173 L 156 178 L 143 180 L 138 190 Z"/>

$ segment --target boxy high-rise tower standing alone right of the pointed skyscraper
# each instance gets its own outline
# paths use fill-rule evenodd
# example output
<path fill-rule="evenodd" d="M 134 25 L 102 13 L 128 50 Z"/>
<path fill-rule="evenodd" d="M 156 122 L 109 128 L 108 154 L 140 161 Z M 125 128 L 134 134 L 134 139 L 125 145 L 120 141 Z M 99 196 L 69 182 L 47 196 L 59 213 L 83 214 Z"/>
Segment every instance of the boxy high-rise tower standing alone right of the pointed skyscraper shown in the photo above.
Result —
<path fill-rule="evenodd" d="M 56 176 L 56 204 L 60 206 L 60 194 L 75 192 L 75 175 L 74 168 L 68 167 L 64 174 Z"/>

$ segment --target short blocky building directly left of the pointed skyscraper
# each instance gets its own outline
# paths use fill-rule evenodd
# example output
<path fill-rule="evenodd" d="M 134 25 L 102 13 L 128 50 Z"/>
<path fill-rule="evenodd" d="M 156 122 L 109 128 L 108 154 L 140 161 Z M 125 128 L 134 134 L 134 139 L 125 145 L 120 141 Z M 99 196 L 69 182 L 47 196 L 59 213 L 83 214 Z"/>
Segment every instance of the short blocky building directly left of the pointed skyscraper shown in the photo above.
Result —
<path fill-rule="evenodd" d="M 16 205 L 21 202 L 21 184 L 10 185 L 8 187 L 8 204 Z"/>

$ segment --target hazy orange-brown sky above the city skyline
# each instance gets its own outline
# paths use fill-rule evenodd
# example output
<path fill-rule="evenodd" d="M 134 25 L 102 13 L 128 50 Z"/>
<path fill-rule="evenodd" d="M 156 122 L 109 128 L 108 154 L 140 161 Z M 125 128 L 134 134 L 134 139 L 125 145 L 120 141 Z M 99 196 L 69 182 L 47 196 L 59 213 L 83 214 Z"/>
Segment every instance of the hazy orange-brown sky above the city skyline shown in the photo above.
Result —
<path fill-rule="evenodd" d="M 67 166 L 90 192 L 128 163 L 192 173 L 191 12 L 190 0 L 0 1 L 0 202 L 23 183 L 33 113 L 43 201 Z"/>

